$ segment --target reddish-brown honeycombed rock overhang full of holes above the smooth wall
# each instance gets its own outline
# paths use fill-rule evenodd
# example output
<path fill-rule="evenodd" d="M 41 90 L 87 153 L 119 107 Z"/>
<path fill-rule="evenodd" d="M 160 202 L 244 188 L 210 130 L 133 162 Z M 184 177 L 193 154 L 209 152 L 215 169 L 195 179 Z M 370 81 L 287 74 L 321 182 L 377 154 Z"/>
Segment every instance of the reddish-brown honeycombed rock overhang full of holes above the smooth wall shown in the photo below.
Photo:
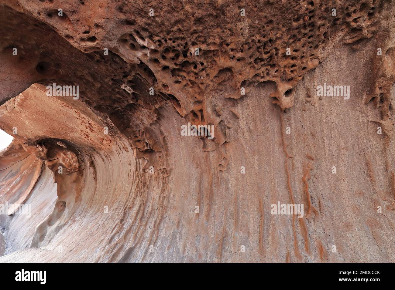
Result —
<path fill-rule="evenodd" d="M 182 116 L 195 115 L 201 120 L 213 118 L 207 110 L 212 109 L 212 95 L 218 94 L 224 80 L 230 87 L 224 97 L 235 99 L 242 96 L 240 90 L 246 84 L 275 81 L 274 103 L 283 110 L 292 107 L 294 87 L 303 75 L 335 44 L 358 47 L 371 38 L 384 4 L 379 0 L 265 1 L 232 6 L 225 2 L 176 1 L 168 5 L 100 0 L 56 5 L 21 1 L 17 7 L 54 27 L 80 51 L 112 51 L 127 64 L 140 64 L 149 75 L 137 79 L 143 77 L 145 85 L 160 94 L 175 96 Z M 112 15 L 111 19 L 106 15 Z M 96 62 L 103 60 L 100 55 L 92 57 Z M 53 65 L 40 62 L 36 70 L 44 72 Z M 124 119 L 125 111 L 133 111 L 141 98 L 136 88 L 141 88 L 141 80 L 133 77 L 139 68 L 124 70 L 122 76 L 111 78 L 119 86 L 118 98 L 130 102 L 114 112 L 124 116 L 123 126 L 130 122 Z M 99 103 L 109 106 L 105 101 Z M 214 119 L 220 122 L 220 117 Z"/>

